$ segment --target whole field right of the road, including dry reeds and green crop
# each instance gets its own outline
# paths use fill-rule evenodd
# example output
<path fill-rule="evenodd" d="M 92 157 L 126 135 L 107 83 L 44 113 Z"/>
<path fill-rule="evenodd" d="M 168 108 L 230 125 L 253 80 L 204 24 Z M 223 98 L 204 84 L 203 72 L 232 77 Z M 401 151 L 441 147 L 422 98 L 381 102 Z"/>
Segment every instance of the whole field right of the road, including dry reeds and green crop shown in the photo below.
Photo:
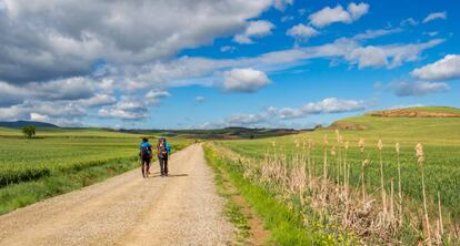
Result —
<path fill-rule="evenodd" d="M 300 194 L 320 221 L 327 217 L 364 242 L 458 243 L 460 119 L 356 116 L 341 122 L 359 130 L 217 145 L 239 156 L 244 176 L 297 197 L 289 203 Z"/>

